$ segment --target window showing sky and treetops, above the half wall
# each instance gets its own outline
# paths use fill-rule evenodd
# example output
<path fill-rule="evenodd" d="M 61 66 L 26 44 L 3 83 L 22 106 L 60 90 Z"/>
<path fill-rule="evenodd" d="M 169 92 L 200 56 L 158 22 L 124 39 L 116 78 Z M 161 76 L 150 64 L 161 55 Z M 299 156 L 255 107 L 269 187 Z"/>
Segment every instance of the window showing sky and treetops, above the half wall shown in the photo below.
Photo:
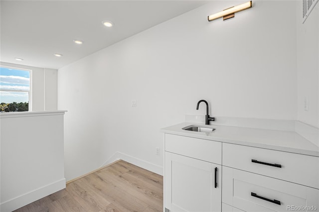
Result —
<path fill-rule="evenodd" d="M 0 111 L 28 111 L 30 70 L 0 67 Z"/>

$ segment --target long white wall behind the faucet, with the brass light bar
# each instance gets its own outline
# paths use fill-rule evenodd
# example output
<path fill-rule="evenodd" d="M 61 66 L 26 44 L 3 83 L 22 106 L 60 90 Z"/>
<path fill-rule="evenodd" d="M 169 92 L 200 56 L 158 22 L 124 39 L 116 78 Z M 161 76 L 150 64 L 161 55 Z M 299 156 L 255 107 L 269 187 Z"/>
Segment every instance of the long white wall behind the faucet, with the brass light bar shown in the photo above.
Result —
<path fill-rule="evenodd" d="M 115 152 L 162 166 L 161 127 L 204 114 L 297 119 L 296 3 L 213 1 L 58 70 L 70 180 Z M 137 107 L 131 101 L 137 100 Z"/>

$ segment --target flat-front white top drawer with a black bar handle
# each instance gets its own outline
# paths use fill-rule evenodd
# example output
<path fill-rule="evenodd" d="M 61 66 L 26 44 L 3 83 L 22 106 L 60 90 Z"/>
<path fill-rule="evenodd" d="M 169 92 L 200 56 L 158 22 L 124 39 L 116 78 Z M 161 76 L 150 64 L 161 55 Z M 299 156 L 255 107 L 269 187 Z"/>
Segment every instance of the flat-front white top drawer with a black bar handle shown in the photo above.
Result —
<path fill-rule="evenodd" d="M 319 189 L 319 157 L 223 143 L 223 166 Z"/>

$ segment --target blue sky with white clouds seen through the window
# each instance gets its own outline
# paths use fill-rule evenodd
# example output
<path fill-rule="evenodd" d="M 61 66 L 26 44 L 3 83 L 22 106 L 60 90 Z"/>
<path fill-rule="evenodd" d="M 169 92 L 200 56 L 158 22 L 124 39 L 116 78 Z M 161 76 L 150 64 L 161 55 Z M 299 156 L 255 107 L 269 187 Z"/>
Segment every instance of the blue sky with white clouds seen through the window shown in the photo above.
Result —
<path fill-rule="evenodd" d="M 1 103 L 27 103 L 29 94 L 23 91 L 30 90 L 30 72 L 0 67 L 0 90 Z"/>

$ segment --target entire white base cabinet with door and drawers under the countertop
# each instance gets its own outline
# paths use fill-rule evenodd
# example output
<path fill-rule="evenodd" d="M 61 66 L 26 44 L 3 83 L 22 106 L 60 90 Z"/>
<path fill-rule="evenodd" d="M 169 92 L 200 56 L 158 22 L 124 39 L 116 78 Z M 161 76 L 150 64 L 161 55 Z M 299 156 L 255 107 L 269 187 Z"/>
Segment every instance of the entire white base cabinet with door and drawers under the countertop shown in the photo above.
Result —
<path fill-rule="evenodd" d="M 168 133 L 164 145 L 169 211 L 319 210 L 319 157 Z"/>

